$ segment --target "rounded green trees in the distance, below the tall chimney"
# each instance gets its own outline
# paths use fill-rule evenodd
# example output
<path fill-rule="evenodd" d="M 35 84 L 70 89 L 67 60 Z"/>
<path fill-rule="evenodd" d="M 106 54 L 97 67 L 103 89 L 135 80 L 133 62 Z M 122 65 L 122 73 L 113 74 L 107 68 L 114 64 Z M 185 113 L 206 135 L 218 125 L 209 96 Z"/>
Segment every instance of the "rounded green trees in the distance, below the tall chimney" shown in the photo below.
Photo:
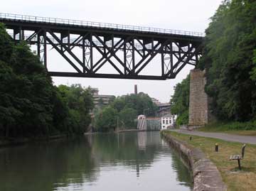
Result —
<path fill-rule="evenodd" d="M 134 129 L 134 119 L 140 114 L 154 116 L 157 107 L 148 94 L 129 94 L 114 99 L 110 106 L 97 111 L 95 115 L 96 131 L 114 131 L 117 129 Z"/>

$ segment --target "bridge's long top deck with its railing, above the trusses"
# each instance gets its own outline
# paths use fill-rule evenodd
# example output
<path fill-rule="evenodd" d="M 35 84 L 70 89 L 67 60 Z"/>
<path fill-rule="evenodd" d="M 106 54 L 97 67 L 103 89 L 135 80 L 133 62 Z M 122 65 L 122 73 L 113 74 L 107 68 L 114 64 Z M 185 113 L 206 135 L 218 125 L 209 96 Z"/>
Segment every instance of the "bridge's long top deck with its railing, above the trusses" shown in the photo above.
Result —
<path fill-rule="evenodd" d="M 24 16 L 11 13 L 0 13 L 0 22 L 6 26 L 18 27 L 23 30 L 35 31 L 37 28 L 51 28 L 53 32 L 61 33 L 70 30 L 73 34 L 82 34 L 85 31 L 93 31 L 103 36 L 114 34 L 115 37 L 123 38 L 124 36 L 142 36 L 143 38 L 156 38 L 156 40 L 172 38 L 176 40 L 203 40 L 204 33 L 192 31 L 178 31 L 164 28 L 129 26 L 114 23 L 99 23 L 91 21 L 78 21 L 63 18 L 48 18 L 40 16 Z"/>

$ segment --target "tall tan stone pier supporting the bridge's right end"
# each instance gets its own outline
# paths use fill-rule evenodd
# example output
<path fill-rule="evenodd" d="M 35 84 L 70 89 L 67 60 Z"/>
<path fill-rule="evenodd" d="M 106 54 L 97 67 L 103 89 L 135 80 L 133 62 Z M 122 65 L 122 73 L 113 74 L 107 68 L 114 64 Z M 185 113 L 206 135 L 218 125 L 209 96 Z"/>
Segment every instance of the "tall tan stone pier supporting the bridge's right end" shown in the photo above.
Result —
<path fill-rule="evenodd" d="M 208 124 L 211 119 L 209 97 L 205 92 L 205 71 L 191 70 L 188 126 L 191 129 Z"/>

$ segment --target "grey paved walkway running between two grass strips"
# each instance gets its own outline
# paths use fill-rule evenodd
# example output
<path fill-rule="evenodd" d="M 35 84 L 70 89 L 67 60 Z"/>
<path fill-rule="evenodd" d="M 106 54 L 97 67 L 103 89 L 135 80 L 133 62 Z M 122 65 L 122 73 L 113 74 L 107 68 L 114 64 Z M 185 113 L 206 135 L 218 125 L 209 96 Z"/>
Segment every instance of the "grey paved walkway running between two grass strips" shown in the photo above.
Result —
<path fill-rule="evenodd" d="M 193 136 L 205 136 L 210 138 L 219 138 L 224 141 L 232 141 L 232 142 L 239 142 L 239 143 L 250 143 L 256 144 L 256 136 L 238 136 L 232 135 L 227 133 L 207 133 L 201 131 L 187 131 L 187 130 L 172 130 L 178 133 L 184 133 Z"/>

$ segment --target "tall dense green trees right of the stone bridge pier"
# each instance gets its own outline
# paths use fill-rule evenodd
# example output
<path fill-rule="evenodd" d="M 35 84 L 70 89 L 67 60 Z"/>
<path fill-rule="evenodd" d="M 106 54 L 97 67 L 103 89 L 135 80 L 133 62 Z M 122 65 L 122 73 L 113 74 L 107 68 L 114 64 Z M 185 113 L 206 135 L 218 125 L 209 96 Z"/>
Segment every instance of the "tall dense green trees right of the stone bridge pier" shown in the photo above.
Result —
<path fill-rule="evenodd" d="M 254 119 L 256 1 L 223 1 L 211 20 L 200 65 L 214 114 L 222 120 Z"/>

